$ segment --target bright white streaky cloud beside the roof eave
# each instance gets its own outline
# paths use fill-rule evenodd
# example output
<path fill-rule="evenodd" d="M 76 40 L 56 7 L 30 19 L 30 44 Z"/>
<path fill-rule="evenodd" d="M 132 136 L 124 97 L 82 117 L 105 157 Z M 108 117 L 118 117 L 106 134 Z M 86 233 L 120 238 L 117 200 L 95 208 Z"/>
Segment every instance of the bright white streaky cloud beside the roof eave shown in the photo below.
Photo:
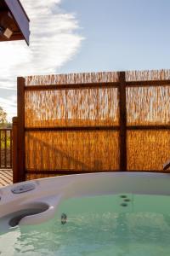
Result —
<path fill-rule="evenodd" d="M 77 53 L 82 36 L 73 14 L 59 9 L 61 0 L 21 0 L 31 20 L 30 47 L 23 41 L 0 44 L 0 88 L 16 88 L 16 77 L 56 73 Z M 15 96 L 0 95 L 8 117 L 16 113 Z M 11 103 L 12 102 L 12 103 Z"/>

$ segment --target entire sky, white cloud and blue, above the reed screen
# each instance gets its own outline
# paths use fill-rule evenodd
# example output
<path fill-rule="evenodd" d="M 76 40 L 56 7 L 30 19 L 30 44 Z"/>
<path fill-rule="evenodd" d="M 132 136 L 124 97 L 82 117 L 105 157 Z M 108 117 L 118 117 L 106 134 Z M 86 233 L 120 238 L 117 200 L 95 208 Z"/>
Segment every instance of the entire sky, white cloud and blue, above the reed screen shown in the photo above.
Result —
<path fill-rule="evenodd" d="M 170 67 L 169 0 L 21 0 L 24 41 L 0 43 L 0 106 L 16 115 L 16 78 Z"/>

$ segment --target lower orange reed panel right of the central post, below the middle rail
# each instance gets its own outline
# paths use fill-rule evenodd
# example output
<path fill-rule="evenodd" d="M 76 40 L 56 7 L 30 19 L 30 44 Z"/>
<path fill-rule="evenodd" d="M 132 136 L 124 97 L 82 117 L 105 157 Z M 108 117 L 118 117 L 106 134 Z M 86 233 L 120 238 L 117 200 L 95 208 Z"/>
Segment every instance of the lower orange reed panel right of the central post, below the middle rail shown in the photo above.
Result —
<path fill-rule="evenodd" d="M 127 171 L 161 171 L 169 149 L 169 130 L 127 131 Z"/>

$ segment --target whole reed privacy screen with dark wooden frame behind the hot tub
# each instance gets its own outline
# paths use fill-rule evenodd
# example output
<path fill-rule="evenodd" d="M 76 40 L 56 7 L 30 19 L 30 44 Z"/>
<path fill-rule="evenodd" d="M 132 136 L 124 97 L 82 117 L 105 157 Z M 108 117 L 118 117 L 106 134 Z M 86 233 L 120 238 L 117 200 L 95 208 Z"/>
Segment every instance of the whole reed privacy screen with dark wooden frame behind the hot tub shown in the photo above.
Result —
<path fill-rule="evenodd" d="M 170 71 L 18 78 L 14 181 L 83 172 L 162 172 Z"/>

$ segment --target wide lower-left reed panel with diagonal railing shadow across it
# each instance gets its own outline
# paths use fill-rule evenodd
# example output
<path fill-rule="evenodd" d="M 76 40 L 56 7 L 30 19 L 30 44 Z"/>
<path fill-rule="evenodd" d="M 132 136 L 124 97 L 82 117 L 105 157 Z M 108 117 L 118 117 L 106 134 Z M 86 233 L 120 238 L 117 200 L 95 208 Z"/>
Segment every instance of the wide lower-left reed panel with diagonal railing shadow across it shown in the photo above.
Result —
<path fill-rule="evenodd" d="M 26 171 L 118 169 L 118 131 L 26 131 Z"/>

